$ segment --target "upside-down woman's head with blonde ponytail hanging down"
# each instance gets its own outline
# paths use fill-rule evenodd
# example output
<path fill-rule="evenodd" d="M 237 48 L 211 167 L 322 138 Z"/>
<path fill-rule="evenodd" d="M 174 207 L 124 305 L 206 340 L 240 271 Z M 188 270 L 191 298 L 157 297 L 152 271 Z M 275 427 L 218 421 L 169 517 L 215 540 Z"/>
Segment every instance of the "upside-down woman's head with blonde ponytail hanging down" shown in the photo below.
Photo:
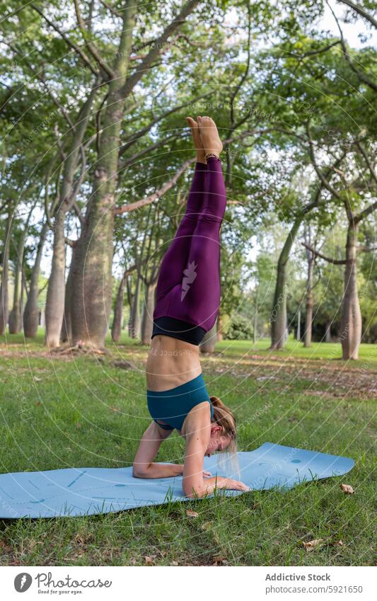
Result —
<path fill-rule="evenodd" d="M 211 437 L 205 455 L 209 457 L 225 449 L 227 452 L 234 453 L 237 451 L 236 418 L 218 396 L 211 396 L 210 399 L 214 408 L 214 417 L 211 421 Z"/>

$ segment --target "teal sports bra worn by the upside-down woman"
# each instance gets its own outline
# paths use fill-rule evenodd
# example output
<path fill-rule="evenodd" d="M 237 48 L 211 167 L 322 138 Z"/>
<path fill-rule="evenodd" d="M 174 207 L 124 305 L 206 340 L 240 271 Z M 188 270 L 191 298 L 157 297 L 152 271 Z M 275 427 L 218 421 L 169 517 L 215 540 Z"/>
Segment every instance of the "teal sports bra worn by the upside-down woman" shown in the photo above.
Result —
<path fill-rule="evenodd" d="M 185 382 L 185 384 L 169 390 L 162 392 L 147 390 L 146 401 L 151 417 L 163 430 L 181 430 L 187 413 L 203 401 L 209 402 L 211 420 L 214 417 L 214 406 L 209 398 L 202 374 L 190 382 Z"/>

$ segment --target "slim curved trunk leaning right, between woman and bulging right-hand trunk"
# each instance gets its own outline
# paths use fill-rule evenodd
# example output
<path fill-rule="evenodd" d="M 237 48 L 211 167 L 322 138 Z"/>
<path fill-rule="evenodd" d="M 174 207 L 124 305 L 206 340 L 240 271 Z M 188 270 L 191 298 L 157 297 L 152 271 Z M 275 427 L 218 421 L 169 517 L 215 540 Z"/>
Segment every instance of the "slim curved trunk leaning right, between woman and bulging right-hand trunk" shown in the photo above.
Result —
<path fill-rule="evenodd" d="M 291 231 L 289 231 L 277 263 L 277 281 L 275 285 L 274 302 L 272 304 L 272 313 L 270 316 L 271 349 L 279 350 L 284 348 L 286 341 L 286 264 L 288 263 L 289 253 L 291 252 L 294 239 L 302 220 L 302 216 L 297 217 L 291 227 Z"/>

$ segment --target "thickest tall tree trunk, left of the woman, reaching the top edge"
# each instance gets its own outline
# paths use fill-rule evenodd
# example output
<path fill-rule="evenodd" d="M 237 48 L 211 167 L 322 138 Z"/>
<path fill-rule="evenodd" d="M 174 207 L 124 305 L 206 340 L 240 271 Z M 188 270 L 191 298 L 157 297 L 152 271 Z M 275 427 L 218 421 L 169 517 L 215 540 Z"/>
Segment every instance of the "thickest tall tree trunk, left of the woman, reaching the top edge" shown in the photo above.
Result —
<path fill-rule="evenodd" d="M 79 269 L 74 277 L 72 337 L 74 342 L 88 341 L 99 348 L 105 346 L 111 307 L 115 190 L 125 100 L 122 86 L 127 76 L 136 13 L 136 3 L 131 0 L 124 8 L 116 76 L 109 84 L 91 204 L 77 249 Z"/>

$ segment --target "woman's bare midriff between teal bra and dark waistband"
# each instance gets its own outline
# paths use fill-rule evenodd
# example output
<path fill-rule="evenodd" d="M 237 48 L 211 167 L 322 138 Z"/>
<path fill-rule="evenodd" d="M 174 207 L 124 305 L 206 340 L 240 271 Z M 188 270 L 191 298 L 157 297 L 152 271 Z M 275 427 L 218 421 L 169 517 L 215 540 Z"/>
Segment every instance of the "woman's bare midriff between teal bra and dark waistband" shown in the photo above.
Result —
<path fill-rule="evenodd" d="M 201 373 L 199 346 L 170 336 L 153 336 L 146 360 L 148 390 L 169 390 L 189 382 Z"/>

